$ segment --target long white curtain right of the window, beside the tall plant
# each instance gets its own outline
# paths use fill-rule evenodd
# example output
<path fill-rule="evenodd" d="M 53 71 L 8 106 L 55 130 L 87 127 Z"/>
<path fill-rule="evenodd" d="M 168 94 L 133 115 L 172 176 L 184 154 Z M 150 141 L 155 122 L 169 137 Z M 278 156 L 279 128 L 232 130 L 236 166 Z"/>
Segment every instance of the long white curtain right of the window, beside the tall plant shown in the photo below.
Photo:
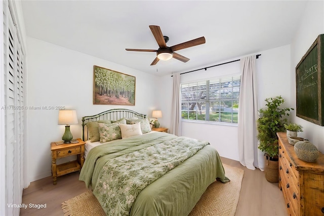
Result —
<path fill-rule="evenodd" d="M 259 110 L 256 56 L 240 59 L 241 84 L 238 109 L 239 162 L 248 169 L 263 170 L 263 153 L 258 149 L 257 119 Z"/>

